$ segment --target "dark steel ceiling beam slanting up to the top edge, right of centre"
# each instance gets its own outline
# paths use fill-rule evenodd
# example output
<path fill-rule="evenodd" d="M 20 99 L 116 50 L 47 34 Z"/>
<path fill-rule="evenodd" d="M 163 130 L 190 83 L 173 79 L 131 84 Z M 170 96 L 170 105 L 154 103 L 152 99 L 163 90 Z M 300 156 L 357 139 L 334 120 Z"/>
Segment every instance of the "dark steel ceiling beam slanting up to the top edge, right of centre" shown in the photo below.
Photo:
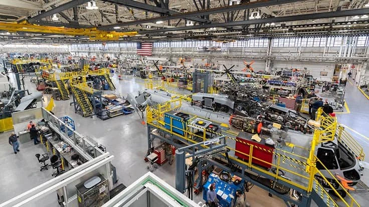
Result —
<path fill-rule="evenodd" d="M 115 0 L 115 1 L 127 1 L 127 0 Z M 114 26 L 128 26 L 128 25 L 133 25 L 133 24 L 148 23 L 148 22 L 155 22 L 155 21 L 165 21 L 165 20 L 178 19 L 178 18 L 191 19 L 191 18 L 196 17 L 196 16 L 205 16 L 205 15 L 210 15 L 210 14 L 213 14 L 213 13 L 228 12 L 228 11 L 242 10 L 242 9 L 248 9 L 248 8 L 258 8 L 258 7 L 264 7 L 264 6 L 270 6 L 270 5 L 293 3 L 293 2 L 297 2 L 297 1 L 303 1 L 303 0 L 253 1 L 253 2 L 248 2 L 248 3 L 244 3 L 244 4 L 237 4 L 237 5 L 231 5 L 231 6 L 227 5 L 227 6 L 204 9 L 204 10 L 200 10 L 200 11 L 190 11 L 190 12 L 185 12 L 185 13 L 177 12 L 177 13 L 171 14 L 169 16 L 159 16 L 159 17 L 149 18 L 149 19 L 141 19 L 141 20 L 136 20 L 136 21 L 128 21 L 128 22 L 104 25 L 104 26 L 100 26 L 99 28 L 100 29 L 109 29 L 109 28 L 112 28 Z M 134 1 L 134 2 L 137 2 L 137 1 Z M 147 4 L 144 4 L 144 5 L 147 6 Z M 132 7 L 132 6 L 130 6 L 130 7 Z M 155 7 L 155 6 L 153 6 L 153 7 Z M 213 26 L 210 26 L 210 27 L 213 27 Z"/>

